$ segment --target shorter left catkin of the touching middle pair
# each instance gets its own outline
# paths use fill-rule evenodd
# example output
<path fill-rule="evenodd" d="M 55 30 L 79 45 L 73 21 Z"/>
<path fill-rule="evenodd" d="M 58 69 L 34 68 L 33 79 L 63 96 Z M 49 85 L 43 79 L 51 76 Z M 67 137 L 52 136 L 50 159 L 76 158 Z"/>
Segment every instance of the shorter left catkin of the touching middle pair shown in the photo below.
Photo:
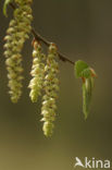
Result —
<path fill-rule="evenodd" d="M 34 51 L 33 51 L 33 66 L 32 66 L 32 76 L 33 78 L 29 82 L 29 97 L 33 102 L 36 102 L 38 96 L 41 95 L 41 89 L 43 87 L 45 78 L 45 54 L 41 53 L 41 46 L 39 42 L 34 40 Z"/>

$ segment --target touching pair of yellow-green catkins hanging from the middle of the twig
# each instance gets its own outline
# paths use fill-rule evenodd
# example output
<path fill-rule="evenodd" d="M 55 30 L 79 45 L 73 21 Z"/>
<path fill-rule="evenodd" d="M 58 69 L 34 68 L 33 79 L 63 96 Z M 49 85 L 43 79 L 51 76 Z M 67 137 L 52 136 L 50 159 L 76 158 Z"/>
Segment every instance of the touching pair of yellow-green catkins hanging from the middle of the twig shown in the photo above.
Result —
<path fill-rule="evenodd" d="M 53 121 L 55 119 L 57 98 L 59 90 L 59 65 L 57 62 L 57 47 L 50 44 L 48 56 L 41 52 L 41 46 L 34 41 L 32 80 L 29 82 L 29 97 L 36 102 L 38 96 L 42 95 L 41 114 L 43 121 L 43 133 L 51 136 L 53 132 Z"/>

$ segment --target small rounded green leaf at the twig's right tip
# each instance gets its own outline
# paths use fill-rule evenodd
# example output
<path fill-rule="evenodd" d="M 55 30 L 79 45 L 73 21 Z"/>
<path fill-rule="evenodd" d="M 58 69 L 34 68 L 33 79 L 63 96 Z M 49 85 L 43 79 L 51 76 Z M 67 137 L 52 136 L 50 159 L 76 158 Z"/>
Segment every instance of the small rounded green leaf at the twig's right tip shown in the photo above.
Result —
<path fill-rule="evenodd" d="M 89 75 L 89 66 L 86 62 L 78 60 L 75 62 L 75 76 L 82 77 L 82 76 L 87 76 Z"/>

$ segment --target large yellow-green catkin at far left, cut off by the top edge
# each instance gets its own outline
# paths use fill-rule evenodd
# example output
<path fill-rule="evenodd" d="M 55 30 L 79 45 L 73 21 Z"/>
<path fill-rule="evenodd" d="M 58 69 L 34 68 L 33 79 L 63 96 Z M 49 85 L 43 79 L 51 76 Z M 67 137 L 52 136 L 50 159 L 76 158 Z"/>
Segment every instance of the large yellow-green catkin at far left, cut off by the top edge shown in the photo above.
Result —
<path fill-rule="evenodd" d="M 14 10 L 13 20 L 11 20 L 7 36 L 4 37 L 4 56 L 7 58 L 5 64 L 9 78 L 8 86 L 13 102 L 17 102 L 22 95 L 23 68 L 21 51 L 32 29 L 30 22 L 33 16 L 30 2 L 32 0 L 15 0 L 17 8 Z"/>

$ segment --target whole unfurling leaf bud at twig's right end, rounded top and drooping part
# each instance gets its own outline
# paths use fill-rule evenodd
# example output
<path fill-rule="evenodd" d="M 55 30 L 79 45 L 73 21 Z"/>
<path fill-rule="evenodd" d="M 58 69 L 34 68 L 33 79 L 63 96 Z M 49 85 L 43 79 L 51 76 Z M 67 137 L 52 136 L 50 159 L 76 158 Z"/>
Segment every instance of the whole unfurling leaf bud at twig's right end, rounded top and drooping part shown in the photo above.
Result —
<path fill-rule="evenodd" d="M 75 62 L 75 76 L 83 80 L 83 112 L 87 119 L 92 96 L 96 72 L 89 65 L 78 60 Z"/>

